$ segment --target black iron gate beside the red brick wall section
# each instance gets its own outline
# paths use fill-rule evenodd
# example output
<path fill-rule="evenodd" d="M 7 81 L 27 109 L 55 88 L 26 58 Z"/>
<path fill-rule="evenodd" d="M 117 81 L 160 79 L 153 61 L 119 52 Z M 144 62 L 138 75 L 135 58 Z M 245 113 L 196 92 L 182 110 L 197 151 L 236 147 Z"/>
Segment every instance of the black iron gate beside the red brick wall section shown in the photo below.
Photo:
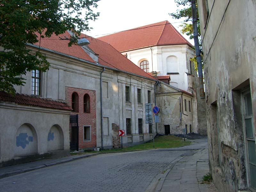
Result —
<path fill-rule="evenodd" d="M 70 150 L 78 151 L 78 115 L 70 115 L 69 117 L 70 127 Z"/>

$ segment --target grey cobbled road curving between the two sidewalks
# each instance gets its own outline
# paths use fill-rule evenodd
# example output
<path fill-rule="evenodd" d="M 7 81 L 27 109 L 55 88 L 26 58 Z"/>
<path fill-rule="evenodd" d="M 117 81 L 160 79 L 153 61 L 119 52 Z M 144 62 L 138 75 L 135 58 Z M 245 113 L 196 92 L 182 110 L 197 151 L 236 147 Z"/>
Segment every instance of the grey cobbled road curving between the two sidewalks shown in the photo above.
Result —
<path fill-rule="evenodd" d="M 145 191 L 157 174 L 207 140 L 175 149 L 100 154 L 0 179 L 0 192 Z"/>

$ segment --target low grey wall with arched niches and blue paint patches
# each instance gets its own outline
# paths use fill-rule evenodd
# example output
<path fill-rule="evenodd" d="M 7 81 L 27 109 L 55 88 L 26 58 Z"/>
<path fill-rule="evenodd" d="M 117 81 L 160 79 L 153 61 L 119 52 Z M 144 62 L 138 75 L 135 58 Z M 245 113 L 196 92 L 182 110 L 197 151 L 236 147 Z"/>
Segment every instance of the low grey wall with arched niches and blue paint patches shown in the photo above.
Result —
<path fill-rule="evenodd" d="M 69 154 L 69 111 L 1 101 L 0 114 L 0 166 Z"/>

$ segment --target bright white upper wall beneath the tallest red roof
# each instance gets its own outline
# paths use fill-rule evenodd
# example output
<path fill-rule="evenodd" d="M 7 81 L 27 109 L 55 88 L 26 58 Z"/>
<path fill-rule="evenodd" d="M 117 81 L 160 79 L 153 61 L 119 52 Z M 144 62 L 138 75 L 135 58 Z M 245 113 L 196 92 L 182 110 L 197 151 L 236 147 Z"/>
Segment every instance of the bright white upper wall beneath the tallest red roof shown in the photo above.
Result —
<path fill-rule="evenodd" d="M 171 83 L 177 88 L 188 89 L 187 73 L 190 73 L 189 58 L 194 57 L 194 50 L 188 45 L 164 45 L 122 52 L 127 58 L 140 67 L 140 62 L 148 60 L 149 72 L 158 71 L 158 76 L 171 75 Z M 192 66 L 192 70 L 194 67 Z"/>

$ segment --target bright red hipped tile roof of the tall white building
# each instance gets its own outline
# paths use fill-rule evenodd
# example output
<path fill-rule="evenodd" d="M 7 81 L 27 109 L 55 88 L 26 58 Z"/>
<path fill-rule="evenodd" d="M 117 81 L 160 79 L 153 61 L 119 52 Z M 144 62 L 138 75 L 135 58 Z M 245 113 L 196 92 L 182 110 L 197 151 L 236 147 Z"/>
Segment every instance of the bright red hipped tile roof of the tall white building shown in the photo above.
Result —
<path fill-rule="evenodd" d="M 169 21 L 162 21 L 99 37 L 117 51 L 124 52 L 142 47 L 170 44 L 191 45 Z"/>

